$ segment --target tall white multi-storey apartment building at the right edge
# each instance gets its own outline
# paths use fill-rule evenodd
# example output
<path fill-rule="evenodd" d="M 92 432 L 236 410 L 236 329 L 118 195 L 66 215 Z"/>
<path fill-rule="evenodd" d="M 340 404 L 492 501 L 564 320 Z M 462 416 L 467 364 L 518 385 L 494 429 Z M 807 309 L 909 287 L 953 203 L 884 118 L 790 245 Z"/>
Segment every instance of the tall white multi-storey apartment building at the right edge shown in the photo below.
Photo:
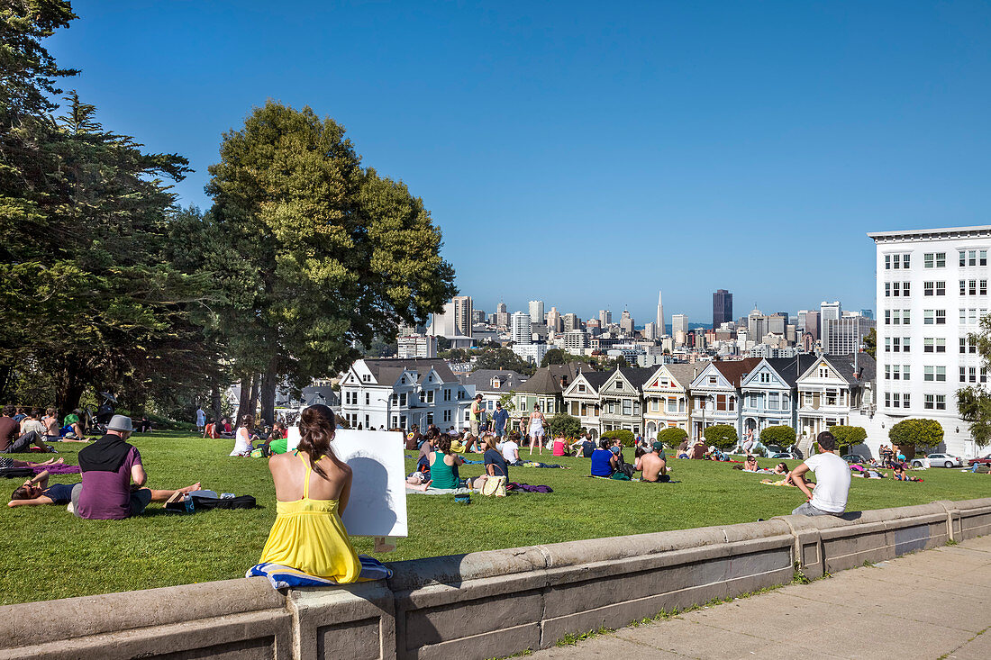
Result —
<path fill-rule="evenodd" d="M 991 308 L 991 226 L 867 236 L 877 246 L 879 416 L 889 424 L 906 417 L 936 419 L 947 452 L 975 456 L 977 447 L 957 412 L 956 390 L 987 383 L 968 335 L 979 331 Z M 886 435 L 879 439 L 887 441 Z"/>

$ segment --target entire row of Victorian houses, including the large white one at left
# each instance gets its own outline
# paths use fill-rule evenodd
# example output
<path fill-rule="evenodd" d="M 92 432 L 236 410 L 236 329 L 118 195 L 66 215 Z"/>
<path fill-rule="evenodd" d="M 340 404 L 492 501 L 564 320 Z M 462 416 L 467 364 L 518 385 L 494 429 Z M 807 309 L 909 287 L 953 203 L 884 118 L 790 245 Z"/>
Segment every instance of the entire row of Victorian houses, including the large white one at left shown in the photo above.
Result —
<path fill-rule="evenodd" d="M 661 365 L 613 372 L 574 362 L 542 368 L 526 379 L 515 372 L 481 370 L 454 375 L 440 359 L 359 360 L 341 382 L 344 418 L 362 428 L 437 424 L 464 428 L 477 392 L 490 413 L 511 401 L 515 425 L 539 406 L 547 417 L 567 412 L 598 438 L 628 429 L 647 437 L 664 428 L 690 438 L 728 424 L 756 439 L 768 426 L 787 424 L 800 438 L 873 415 L 874 360 L 856 356 L 800 355 L 739 361 Z"/>

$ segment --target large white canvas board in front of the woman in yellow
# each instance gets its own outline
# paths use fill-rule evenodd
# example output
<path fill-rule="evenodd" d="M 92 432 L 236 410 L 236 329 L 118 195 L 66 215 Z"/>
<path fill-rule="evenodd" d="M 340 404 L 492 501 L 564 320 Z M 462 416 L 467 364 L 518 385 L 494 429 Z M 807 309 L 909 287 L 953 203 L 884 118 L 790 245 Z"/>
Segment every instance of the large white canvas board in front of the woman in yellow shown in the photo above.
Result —
<path fill-rule="evenodd" d="M 299 443 L 299 427 L 287 431 L 291 451 Z M 408 536 L 402 434 L 339 428 L 330 446 L 352 471 L 351 497 L 341 516 L 348 535 Z"/>

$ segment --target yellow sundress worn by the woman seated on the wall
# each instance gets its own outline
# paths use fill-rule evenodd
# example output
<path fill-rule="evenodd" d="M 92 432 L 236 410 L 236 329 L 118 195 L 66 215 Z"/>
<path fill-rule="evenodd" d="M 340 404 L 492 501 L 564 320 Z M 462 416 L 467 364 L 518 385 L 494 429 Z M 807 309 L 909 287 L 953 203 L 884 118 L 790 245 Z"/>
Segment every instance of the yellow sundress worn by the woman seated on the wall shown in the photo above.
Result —
<path fill-rule="evenodd" d="M 277 515 L 261 563 L 289 566 L 340 584 L 355 582 L 362 565 L 337 512 L 337 500 L 310 499 L 312 468 L 304 457 L 293 453 L 306 466 L 303 498 L 275 502 Z"/>

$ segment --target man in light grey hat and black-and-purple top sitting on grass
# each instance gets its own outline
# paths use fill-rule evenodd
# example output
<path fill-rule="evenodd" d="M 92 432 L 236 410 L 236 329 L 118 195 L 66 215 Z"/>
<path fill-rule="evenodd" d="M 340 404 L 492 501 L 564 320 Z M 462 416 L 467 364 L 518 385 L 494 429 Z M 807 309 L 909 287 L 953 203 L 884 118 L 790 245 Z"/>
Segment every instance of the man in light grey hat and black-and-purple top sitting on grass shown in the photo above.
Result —
<path fill-rule="evenodd" d="M 79 452 L 82 483 L 72 489 L 72 510 L 80 518 L 122 520 L 152 501 L 152 492 L 142 488 L 148 475 L 141 454 L 127 442 L 133 430 L 130 417 L 114 415 L 107 434 Z"/>

